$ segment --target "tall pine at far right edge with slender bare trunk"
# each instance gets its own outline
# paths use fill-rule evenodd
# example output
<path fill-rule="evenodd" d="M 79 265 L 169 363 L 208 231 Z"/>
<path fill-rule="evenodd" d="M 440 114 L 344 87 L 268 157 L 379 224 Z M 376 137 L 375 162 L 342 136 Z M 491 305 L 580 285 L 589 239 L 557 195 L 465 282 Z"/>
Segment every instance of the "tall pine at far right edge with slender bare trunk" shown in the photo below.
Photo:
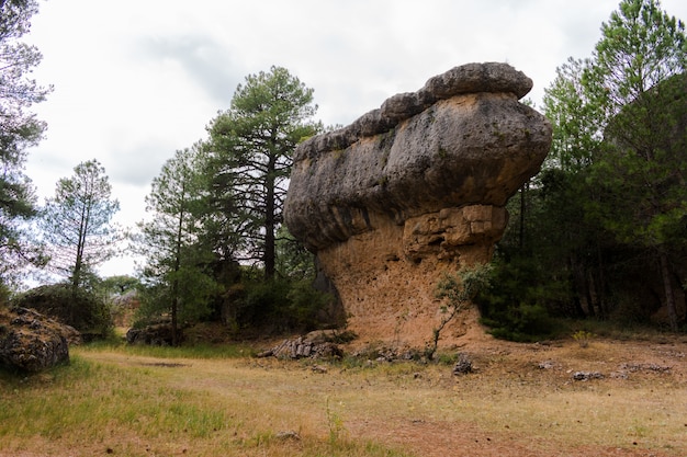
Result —
<path fill-rule="evenodd" d="M 677 330 L 671 252 L 687 244 L 687 39 L 657 0 L 623 0 L 601 27 L 583 81 L 605 113 L 589 210 L 624 244 L 653 253 Z"/>

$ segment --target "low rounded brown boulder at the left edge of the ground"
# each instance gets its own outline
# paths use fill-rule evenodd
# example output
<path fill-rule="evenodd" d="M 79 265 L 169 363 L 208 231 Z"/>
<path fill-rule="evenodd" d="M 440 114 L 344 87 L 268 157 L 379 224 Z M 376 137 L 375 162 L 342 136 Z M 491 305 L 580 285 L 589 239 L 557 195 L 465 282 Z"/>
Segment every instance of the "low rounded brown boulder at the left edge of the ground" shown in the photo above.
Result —
<path fill-rule="evenodd" d="M 79 332 L 32 309 L 0 310 L 0 364 L 37 373 L 69 362 Z"/>

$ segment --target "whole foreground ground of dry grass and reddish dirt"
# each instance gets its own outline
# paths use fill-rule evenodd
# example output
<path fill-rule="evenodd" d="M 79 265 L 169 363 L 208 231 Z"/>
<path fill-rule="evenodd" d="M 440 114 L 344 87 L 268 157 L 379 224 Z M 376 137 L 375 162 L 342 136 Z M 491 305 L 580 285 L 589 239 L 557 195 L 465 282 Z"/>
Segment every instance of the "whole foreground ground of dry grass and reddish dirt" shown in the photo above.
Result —
<path fill-rule="evenodd" d="M 0 372 L 0 456 L 687 455 L 687 341 L 461 351 L 465 376 L 243 346 L 74 347 L 49 373 Z"/>

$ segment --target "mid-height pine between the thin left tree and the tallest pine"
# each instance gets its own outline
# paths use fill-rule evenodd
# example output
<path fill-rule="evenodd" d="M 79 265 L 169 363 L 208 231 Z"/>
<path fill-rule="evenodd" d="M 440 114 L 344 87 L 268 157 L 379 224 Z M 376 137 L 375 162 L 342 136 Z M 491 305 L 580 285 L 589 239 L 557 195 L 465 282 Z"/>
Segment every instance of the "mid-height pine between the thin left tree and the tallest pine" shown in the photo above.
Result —
<path fill-rule="evenodd" d="M 209 269 L 213 253 L 199 244 L 206 188 L 200 172 L 201 155 L 198 144 L 178 150 L 165 163 L 146 197 L 151 219 L 139 224 L 137 251 L 146 258 L 144 306 L 148 313 L 170 313 L 174 345 L 180 340 L 179 322 L 210 312 L 210 301 L 217 293 Z"/>

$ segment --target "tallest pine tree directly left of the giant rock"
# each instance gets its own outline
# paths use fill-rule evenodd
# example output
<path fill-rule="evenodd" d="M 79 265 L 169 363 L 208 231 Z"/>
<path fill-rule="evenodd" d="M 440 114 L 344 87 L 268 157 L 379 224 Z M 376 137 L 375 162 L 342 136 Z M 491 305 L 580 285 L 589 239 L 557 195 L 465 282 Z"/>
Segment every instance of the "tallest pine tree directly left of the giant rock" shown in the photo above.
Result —
<path fill-rule="evenodd" d="M 210 173 L 213 202 L 224 215 L 225 235 L 245 242 L 241 260 L 260 262 L 266 277 L 277 265 L 277 231 L 299 141 L 322 129 L 309 118 L 313 90 L 286 69 L 272 67 L 246 78 L 232 106 L 213 119 Z"/>

